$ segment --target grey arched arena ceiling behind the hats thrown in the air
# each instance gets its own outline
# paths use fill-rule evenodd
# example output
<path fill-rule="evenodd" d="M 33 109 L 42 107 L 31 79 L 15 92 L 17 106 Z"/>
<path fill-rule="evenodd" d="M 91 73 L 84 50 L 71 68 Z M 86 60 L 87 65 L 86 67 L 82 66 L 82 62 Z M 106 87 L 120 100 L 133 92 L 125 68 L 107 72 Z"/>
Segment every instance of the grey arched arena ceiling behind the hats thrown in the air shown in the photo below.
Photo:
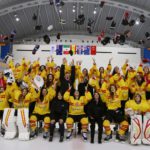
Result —
<path fill-rule="evenodd" d="M 144 46 L 150 47 L 150 40 L 145 36 L 146 32 L 150 33 L 150 0 L 63 0 L 64 6 L 50 5 L 50 1 L 52 0 L 0 0 L 0 33 L 8 35 L 16 30 L 16 38 L 21 40 L 57 33 L 89 35 L 87 24 L 90 18 L 94 20 L 91 35 L 99 35 L 104 31 L 113 37 L 115 33 L 130 30 L 132 34 L 128 40 L 137 43 L 144 40 Z M 105 3 L 100 7 L 102 1 Z M 133 26 L 122 25 L 126 12 L 129 21 L 139 21 L 143 14 L 145 22 Z M 37 20 L 33 19 L 34 14 Z M 80 14 L 85 16 L 83 25 L 73 22 Z M 113 19 L 106 20 L 106 17 Z M 16 18 L 19 20 L 16 21 Z M 61 24 L 61 19 L 66 23 Z M 114 29 L 110 29 L 112 21 L 116 23 Z M 36 25 L 42 26 L 41 30 L 35 30 Z M 49 25 L 53 25 L 53 30 L 47 30 Z"/>

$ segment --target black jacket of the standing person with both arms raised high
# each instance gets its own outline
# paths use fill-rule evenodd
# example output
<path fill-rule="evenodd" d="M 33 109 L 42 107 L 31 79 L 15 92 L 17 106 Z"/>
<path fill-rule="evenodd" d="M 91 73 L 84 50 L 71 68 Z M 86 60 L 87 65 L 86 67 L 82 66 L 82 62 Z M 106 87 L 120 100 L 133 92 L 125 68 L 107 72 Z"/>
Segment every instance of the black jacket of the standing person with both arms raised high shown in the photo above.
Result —
<path fill-rule="evenodd" d="M 61 69 L 60 69 L 60 82 L 61 82 L 61 86 L 60 86 L 60 91 L 62 93 L 62 95 L 64 95 L 64 93 L 69 89 L 69 84 L 71 85 L 71 95 L 73 95 L 74 93 L 74 81 L 75 81 L 75 66 L 71 67 L 71 77 L 70 80 L 66 80 L 65 79 L 65 65 L 61 65 Z"/>

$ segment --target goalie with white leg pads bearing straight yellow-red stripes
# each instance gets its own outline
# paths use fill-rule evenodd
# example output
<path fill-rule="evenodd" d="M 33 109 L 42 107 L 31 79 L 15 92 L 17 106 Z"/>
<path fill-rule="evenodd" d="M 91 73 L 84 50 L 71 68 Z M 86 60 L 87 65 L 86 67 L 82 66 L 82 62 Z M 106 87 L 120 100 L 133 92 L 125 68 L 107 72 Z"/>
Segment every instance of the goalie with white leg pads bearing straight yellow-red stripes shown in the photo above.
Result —
<path fill-rule="evenodd" d="M 14 108 L 4 111 L 3 124 L 5 126 L 5 139 L 13 139 L 17 135 L 17 127 L 20 140 L 29 140 L 29 104 L 31 93 L 27 88 L 16 90 L 12 100 Z M 17 119 L 17 120 L 16 120 Z"/>

